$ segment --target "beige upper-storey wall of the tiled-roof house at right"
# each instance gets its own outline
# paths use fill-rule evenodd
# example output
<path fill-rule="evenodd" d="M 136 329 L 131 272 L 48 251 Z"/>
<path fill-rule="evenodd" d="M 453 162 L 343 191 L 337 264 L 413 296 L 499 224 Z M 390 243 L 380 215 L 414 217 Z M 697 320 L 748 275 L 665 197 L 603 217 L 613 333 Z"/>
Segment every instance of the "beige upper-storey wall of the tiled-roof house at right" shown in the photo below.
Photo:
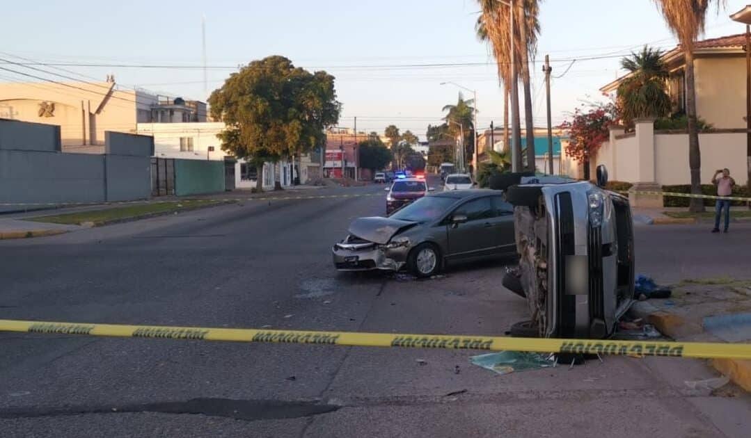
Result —
<path fill-rule="evenodd" d="M 746 127 L 745 58 L 696 58 L 694 73 L 698 116 L 716 128 Z"/>

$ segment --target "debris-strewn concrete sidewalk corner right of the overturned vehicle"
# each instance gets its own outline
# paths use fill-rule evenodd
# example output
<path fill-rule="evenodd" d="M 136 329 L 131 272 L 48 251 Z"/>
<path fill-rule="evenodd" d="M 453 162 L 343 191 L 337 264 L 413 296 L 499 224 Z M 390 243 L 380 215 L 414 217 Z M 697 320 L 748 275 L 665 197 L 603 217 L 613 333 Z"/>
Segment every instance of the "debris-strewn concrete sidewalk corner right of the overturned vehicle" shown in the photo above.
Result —
<path fill-rule="evenodd" d="M 635 302 L 632 313 L 676 341 L 751 341 L 751 281 L 716 278 L 683 281 L 669 299 Z M 718 328 L 716 320 L 722 320 Z M 728 337 L 728 333 L 731 336 Z M 751 360 L 711 359 L 710 365 L 751 392 Z"/>

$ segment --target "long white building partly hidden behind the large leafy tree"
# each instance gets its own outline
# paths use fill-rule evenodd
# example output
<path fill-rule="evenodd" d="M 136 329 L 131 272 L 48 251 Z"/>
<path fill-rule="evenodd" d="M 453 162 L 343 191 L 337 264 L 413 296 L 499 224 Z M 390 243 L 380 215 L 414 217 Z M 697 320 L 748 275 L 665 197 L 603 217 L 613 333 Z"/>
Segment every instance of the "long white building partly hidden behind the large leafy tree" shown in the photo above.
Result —
<path fill-rule="evenodd" d="M 234 162 L 234 182 L 236 188 L 254 188 L 256 185 L 257 169 L 245 162 L 235 160 L 234 157 L 222 151 L 222 142 L 216 134 L 225 129 L 221 121 L 185 122 L 185 123 L 139 123 L 137 133 L 154 137 L 154 156 L 158 158 L 182 158 L 186 160 L 224 160 Z M 300 183 L 304 184 L 311 167 L 318 166 L 310 163 L 309 157 L 303 155 L 300 160 Z M 311 175 L 312 176 L 312 175 Z M 293 183 L 293 165 L 291 160 L 279 160 L 277 163 L 265 163 L 263 187 L 274 187 L 278 178 L 282 187 Z"/>

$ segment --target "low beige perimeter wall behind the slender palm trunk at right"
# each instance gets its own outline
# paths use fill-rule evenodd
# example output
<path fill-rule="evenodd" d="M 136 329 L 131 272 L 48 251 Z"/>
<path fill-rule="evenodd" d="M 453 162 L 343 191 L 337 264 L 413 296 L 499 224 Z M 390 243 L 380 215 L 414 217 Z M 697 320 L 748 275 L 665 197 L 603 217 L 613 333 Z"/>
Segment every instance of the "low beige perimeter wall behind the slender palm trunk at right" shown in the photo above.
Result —
<path fill-rule="evenodd" d="M 746 184 L 746 134 L 702 133 L 701 182 L 709 184 L 714 171 L 727 167 L 738 184 Z M 655 166 L 659 184 L 689 184 L 688 134 L 656 134 Z"/>

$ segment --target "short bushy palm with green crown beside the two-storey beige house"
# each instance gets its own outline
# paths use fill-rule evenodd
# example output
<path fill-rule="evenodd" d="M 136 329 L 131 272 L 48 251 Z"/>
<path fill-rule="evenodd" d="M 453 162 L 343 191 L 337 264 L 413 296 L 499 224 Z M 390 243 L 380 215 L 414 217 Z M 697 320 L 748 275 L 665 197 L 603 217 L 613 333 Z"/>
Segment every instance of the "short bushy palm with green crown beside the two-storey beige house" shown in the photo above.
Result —
<path fill-rule="evenodd" d="M 644 46 L 639 53 L 621 59 L 629 76 L 618 86 L 617 101 L 625 124 L 639 117 L 664 117 L 671 110 L 667 83 L 668 69 L 662 51 Z"/>

